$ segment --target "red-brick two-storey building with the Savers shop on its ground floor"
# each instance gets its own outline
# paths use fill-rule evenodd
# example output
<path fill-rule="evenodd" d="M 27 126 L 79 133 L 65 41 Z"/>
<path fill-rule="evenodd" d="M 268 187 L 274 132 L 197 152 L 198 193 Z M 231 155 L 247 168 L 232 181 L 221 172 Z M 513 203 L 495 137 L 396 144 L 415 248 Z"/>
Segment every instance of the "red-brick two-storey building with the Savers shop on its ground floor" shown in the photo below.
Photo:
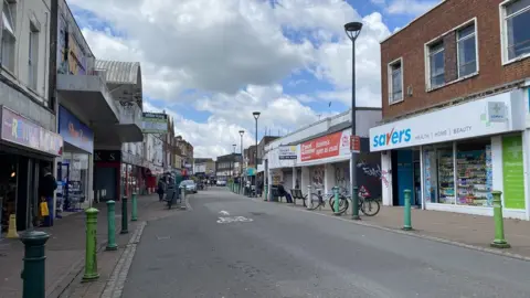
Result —
<path fill-rule="evenodd" d="M 383 203 L 529 220 L 530 1 L 446 0 L 381 42 Z M 528 124 L 527 124 L 528 123 Z"/>

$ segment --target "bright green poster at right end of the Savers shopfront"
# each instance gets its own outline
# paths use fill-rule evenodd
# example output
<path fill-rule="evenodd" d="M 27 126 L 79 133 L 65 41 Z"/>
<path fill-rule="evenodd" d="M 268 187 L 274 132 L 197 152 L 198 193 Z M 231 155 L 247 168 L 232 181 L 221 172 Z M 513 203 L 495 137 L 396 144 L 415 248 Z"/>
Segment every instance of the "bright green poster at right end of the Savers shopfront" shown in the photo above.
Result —
<path fill-rule="evenodd" d="M 524 170 L 521 135 L 502 137 L 502 184 L 507 209 L 524 209 Z"/>

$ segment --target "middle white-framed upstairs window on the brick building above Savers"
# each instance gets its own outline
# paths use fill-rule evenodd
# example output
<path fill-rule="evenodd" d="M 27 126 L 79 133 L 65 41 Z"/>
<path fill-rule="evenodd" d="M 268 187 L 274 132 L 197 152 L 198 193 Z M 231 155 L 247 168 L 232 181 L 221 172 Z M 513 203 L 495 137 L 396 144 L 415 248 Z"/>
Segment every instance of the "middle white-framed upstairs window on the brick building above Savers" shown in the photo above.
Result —
<path fill-rule="evenodd" d="M 512 1 L 512 0 L 510 0 Z M 464 29 L 466 28 L 467 25 L 471 24 L 471 23 L 475 23 L 475 45 L 476 45 L 476 55 L 477 55 L 477 71 L 473 74 L 469 74 L 469 75 L 466 75 L 466 76 L 463 76 L 463 77 L 459 77 L 459 67 L 458 67 L 458 31 L 460 29 Z M 457 67 L 457 78 L 456 79 L 453 79 L 451 82 L 445 82 L 445 84 L 442 84 L 439 86 L 435 86 L 435 87 L 432 87 L 431 86 L 431 60 L 430 60 L 430 47 L 432 44 L 441 41 L 444 39 L 444 36 L 446 36 L 447 34 L 452 33 L 452 32 L 455 32 L 455 42 L 457 43 L 456 44 L 456 58 L 457 58 L 457 64 L 456 64 L 456 67 Z M 439 89 L 439 88 L 443 88 L 445 86 L 448 86 L 448 85 L 452 85 L 452 84 L 455 84 L 455 83 L 458 83 L 460 81 L 464 81 L 464 79 L 467 79 L 469 77 L 474 77 L 476 75 L 478 75 L 479 73 L 479 51 L 478 51 L 478 22 L 477 22 L 477 17 L 470 19 L 470 20 L 467 20 L 465 21 L 464 23 L 448 30 L 447 32 L 430 40 L 428 42 L 426 42 L 424 44 L 424 47 L 423 47 L 423 51 L 424 51 L 424 62 L 425 62 L 425 92 L 433 92 L 433 91 L 436 91 L 436 89 Z M 445 45 L 444 45 L 444 50 L 445 50 Z M 445 67 L 445 65 L 444 65 Z"/>

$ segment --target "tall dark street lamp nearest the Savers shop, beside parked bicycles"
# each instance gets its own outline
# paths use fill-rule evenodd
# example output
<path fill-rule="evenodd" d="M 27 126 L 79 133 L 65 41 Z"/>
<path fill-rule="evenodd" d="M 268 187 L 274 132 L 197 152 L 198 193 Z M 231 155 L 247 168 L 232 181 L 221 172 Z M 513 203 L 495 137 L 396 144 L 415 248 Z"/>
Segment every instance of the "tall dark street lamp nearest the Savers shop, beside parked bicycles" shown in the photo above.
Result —
<path fill-rule="evenodd" d="M 356 136 L 356 40 L 361 33 L 362 23 L 361 22 L 350 22 L 344 24 L 346 35 L 351 40 L 351 138 Z M 350 138 L 350 141 L 351 141 Z M 353 148 L 351 148 L 353 149 Z M 357 188 L 357 153 L 351 150 L 350 159 L 350 192 L 351 192 L 351 203 L 352 203 L 352 220 L 360 220 L 359 217 L 359 196 L 356 191 Z"/>

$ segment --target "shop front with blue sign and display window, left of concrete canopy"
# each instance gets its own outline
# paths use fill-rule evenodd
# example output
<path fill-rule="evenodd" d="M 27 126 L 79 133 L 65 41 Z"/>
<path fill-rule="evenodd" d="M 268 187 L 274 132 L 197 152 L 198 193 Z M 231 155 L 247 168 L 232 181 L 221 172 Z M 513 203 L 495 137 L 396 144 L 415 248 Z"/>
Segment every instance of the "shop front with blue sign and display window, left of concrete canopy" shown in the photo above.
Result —
<path fill-rule="evenodd" d="M 94 132 L 60 106 L 59 134 L 64 140 L 64 150 L 57 161 L 57 212 L 82 211 L 93 198 Z"/>

